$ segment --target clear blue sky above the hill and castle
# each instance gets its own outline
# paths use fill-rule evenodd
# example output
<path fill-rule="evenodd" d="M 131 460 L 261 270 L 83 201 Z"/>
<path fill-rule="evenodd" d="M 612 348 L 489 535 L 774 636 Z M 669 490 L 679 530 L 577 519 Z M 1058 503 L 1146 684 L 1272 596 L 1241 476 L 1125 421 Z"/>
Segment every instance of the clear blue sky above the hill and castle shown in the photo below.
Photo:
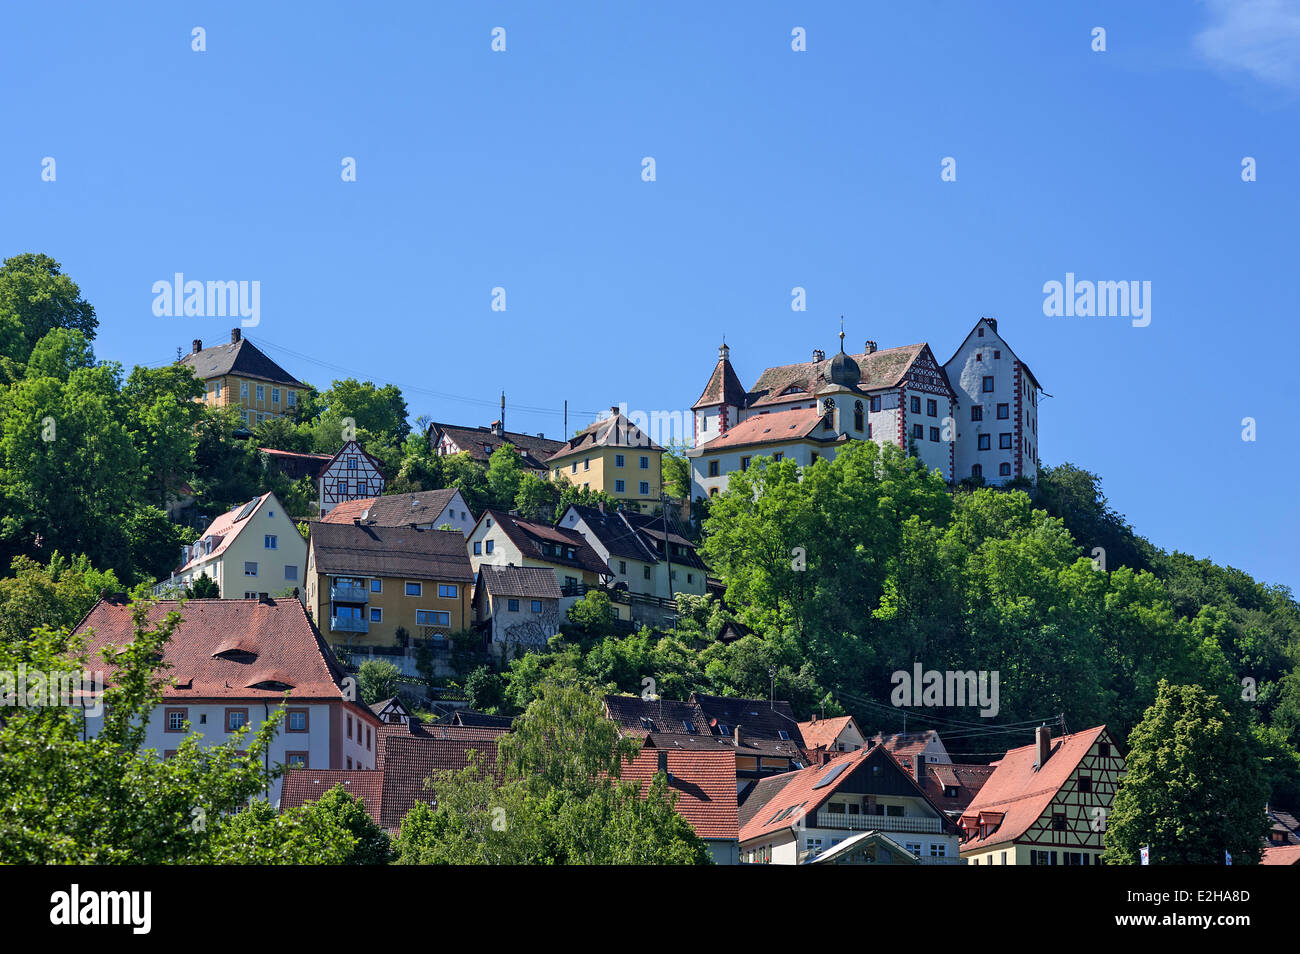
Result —
<path fill-rule="evenodd" d="M 0 255 L 64 264 L 101 357 L 228 339 L 156 281 L 259 281 L 298 377 L 559 435 L 689 408 L 723 334 L 750 383 L 841 315 L 941 361 L 991 315 L 1045 463 L 1300 587 L 1300 3 L 6 4 L 0 84 Z M 1045 317 L 1067 272 L 1150 325 Z"/>

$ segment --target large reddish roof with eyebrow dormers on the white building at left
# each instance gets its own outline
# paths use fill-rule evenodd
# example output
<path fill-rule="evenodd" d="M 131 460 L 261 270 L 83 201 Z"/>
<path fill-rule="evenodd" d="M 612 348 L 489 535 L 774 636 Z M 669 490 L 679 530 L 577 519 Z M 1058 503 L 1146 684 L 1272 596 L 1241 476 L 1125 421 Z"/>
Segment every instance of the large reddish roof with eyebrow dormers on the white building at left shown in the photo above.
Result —
<path fill-rule="evenodd" d="M 84 634 L 92 659 L 101 659 L 108 643 L 125 646 L 134 639 L 133 606 L 99 600 L 77 626 Z M 156 624 L 177 611 L 182 623 L 162 650 L 168 675 L 177 685 L 165 690 L 168 701 L 265 699 L 278 704 L 283 685 L 292 699 L 344 699 L 342 669 L 292 598 L 190 599 L 183 606 L 162 599 L 148 608 Z M 108 669 L 113 671 L 112 663 Z M 112 677 L 112 672 L 108 673 Z M 283 685 L 281 685 L 283 684 Z M 374 715 L 355 703 L 348 707 Z"/>

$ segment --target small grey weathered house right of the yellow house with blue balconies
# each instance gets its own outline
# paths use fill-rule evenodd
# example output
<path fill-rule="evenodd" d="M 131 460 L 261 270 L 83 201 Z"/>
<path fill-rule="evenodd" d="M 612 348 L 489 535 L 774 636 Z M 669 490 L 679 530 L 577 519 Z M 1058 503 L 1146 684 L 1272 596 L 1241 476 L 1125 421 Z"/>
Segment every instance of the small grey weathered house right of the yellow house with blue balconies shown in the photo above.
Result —
<path fill-rule="evenodd" d="M 560 632 L 560 585 L 547 567 L 478 564 L 474 625 L 484 649 L 502 660 L 542 650 Z"/>

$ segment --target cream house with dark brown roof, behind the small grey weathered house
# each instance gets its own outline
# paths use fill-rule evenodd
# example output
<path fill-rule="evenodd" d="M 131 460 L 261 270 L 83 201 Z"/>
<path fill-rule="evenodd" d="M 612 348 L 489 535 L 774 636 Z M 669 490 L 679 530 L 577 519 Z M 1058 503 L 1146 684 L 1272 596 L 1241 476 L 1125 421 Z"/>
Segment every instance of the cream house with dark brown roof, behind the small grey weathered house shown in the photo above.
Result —
<path fill-rule="evenodd" d="M 485 509 L 465 541 L 474 573 L 494 567 L 541 567 L 555 573 L 560 585 L 560 619 L 582 595 L 603 586 L 610 576 L 592 545 L 577 530 L 524 520 L 514 513 Z"/>

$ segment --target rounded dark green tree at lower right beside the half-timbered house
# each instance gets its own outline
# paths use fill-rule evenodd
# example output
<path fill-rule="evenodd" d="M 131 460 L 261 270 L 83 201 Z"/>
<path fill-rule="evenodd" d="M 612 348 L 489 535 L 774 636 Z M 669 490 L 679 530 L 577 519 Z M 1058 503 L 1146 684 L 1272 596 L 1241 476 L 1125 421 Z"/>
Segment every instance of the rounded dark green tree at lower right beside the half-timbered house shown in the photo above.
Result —
<path fill-rule="evenodd" d="M 1258 862 L 1268 785 L 1254 742 L 1219 699 L 1200 686 L 1162 681 L 1128 737 L 1126 775 L 1106 818 L 1105 862 L 1154 864 Z"/>

